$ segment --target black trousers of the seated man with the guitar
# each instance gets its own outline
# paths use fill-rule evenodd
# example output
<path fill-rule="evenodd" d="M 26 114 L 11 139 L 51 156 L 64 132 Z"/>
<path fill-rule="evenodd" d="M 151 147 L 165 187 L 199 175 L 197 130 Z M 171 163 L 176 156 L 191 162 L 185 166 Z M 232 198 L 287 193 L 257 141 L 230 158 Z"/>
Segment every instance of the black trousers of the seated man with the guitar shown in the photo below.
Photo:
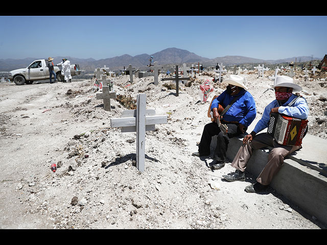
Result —
<path fill-rule="evenodd" d="M 241 130 L 236 124 L 227 124 L 228 131 L 224 134 L 218 127 L 216 122 L 206 124 L 203 129 L 201 141 L 199 144 L 200 156 L 210 155 L 210 144 L 213 136 L 217 136 L 217 145 L 214 152 L 213 159 L 218 163 L 222 163 L 226 160 L 226 152 L 228 148 L 229 139 L 242 134 Z M 246 128 L 244 128 L 246 130 Z"/>

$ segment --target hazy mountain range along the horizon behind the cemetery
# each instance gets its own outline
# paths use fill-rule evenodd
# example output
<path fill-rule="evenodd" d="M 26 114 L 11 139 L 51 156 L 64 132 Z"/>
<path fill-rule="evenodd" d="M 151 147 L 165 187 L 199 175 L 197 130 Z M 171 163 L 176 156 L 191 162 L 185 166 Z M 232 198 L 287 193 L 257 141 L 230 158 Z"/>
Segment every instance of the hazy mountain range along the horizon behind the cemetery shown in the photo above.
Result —
<path fill-rule="evenodd" d="M 308 62 L 311 60 L 322 59 L 322 58 L 313 58 L 311 56 L 292 57 L 292 58 L 279 59 L 279 60 L 262 60 L 262 59 L 244 57 L 244 56 L 224 56 L 224 57 L 217 57 L 214 59 L 208 59 L 205 57 L 198 56 L 187 50 L 171 47 L 151 55 L 141 54 L 136 56 L 130 56 L 128 54 L 125 54 L 122 56 L 115 56 L 113 58 L 100 59 L 100 60 L 95 60 L 93 58 L 79 59 L 73 57 L 53 57 L 54 58 L 53 63 L 58 64 L 61 62 L 62 58 L 67 58 L 69 61 L 71 61 L 72 64 L 79 64 L 80 69 L 90 72 L 94 71 L 94 69 L 97 67 L 100 68 L 104 67 L 104 65 L 106 65 L 106 67 L 109 67 L 110 70 L 120 70 L 123 69 L 124 67 L 127 68 L 129 64 L 132 64 L 133 67 L 138 68 L 140 70 L 145 70 L 147 69 L 147 65 L 149 65 L 150 56 L 154 57 L 153 62 L 157 61 L 158 65 L 162 65 L 162 66 L 182 65 L 183 63 L 186 63 L 187 65 L 191 65 L 191 64 L 196 65 L 199 62 L 204 67 L 216 66 L 217 63 L 223 63 L 223 65 L 240 65 L 246 63 L 279 64 L 279 63 L 285 63 L 291 61 L 295 62 L 295 58 L 297 59 L 297 62 Z M 0 59 L 0 71 L 10 71 L 18 68 L 24 68 L 37 59 L 48 59 L 48 57 L 25 58 L 25 59 Z"/>

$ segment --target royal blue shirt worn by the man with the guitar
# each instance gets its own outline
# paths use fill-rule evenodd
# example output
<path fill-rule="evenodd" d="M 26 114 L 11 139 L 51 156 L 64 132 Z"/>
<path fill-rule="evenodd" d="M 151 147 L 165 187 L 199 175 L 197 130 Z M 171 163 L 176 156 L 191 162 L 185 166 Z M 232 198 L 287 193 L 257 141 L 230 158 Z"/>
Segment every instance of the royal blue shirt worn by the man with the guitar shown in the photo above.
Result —
<path fill-rule="evenodd" d="M 248 127 L 256 116 L 255 101 L 252 95 L 242 89 L 238 94 L 239 98 L 231 105 L 231 107 L 223 115 L 225 121 L 238 121 L 240 124 Z M 210 109 L 218 108 L 218 104 L 224 108 L 234 99 L 235 96 L 223 91 L 212 103 Z"/>

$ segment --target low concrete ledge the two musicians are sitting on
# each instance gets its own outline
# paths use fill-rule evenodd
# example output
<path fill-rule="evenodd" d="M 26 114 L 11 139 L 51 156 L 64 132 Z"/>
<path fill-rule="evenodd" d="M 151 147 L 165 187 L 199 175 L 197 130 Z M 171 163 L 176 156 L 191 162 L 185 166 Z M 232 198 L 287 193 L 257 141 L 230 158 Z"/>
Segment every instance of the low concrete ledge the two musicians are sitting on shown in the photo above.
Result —
<path fill-rule="evenodd" d="M 227 151 L 230 161 L 243 144 L 243 137 L 244 135 L 240 135 L 230 139 Z M 212 152 L 217 144 L 216 139 L 217 136 L 212 139 Z M 327 224 L 327 158 L 323 152 L 325 145 L 327 140 L 306 135 L 302 142 L 303 148 L 284 160 L 284 165 L 270 186 L 303 211 Z M 258 177 L 267 163 L 270 150 L 271 148 L 253 151 L 246 171 L 255 178 Z"/>

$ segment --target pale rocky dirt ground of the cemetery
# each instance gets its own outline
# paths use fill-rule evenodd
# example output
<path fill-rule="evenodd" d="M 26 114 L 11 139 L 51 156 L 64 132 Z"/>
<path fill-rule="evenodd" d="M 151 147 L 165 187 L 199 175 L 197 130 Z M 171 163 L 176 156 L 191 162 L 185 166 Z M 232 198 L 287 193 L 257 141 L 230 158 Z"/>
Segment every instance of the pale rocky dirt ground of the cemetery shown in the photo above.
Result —
<path fill-rule="evenodd" d="M 273 73 L 242 74 L 258 118 L 273 100 Z M 210 159 L 191 156 L 209 122 L 209 102 L 224 90 L 212 83 L 215 91 L 201 104 L 199 84 L 206 78 L 214 76 L 181 84 L 178 97 L 160 80 L 155 86 L 153 77 L 134 78 L 133 84 L 129 76 L 112 78 L 116 92 L 133 99 L 146 93 L 147 109 L 168 115 L 168 124 L 146 133 L 143 173 L 135 167 L 136 133 L 110 128 L 110 118 L 127 108 L 111 100 L 105 111 L 92 92 L 94 80 L 0 84 L 0 228 L 325 229 L 270 187 L 262 194 L 245 192 L 256 178 L 249 173 L 244 182 L 224 181 L 222 175 L 234 170 L 230 161 L 212 171 Z M 327 138 L 326 82 L 305 81 L 301 74 L 294 81 L 311 108 L 309 133 Z"/>

